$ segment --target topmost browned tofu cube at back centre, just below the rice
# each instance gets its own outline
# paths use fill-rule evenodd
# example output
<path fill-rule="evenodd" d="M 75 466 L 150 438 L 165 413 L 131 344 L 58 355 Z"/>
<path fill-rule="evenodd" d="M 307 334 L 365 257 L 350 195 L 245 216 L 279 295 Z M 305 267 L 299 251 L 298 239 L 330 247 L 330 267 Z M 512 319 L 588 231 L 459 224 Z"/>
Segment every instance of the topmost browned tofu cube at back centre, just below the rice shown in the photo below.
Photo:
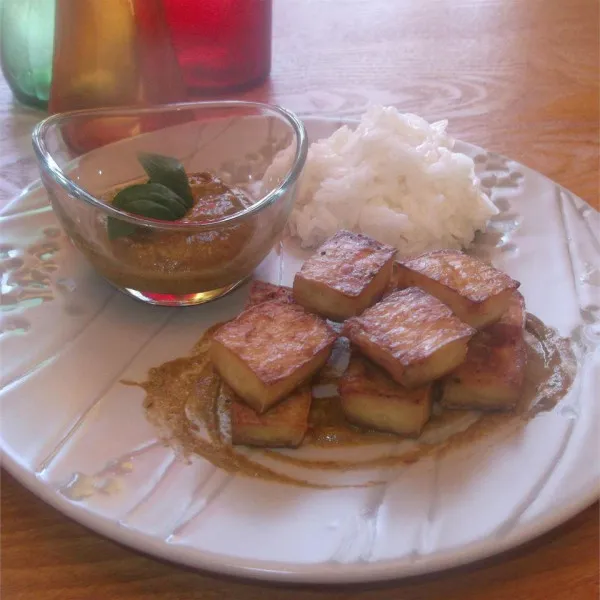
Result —
<path fill-rule="evenodd" d="M 359 315 L 383 295 L 395 254 L 366 235 L 338 231 L 296 273 L 294 298 L 334 321 Z"/>

